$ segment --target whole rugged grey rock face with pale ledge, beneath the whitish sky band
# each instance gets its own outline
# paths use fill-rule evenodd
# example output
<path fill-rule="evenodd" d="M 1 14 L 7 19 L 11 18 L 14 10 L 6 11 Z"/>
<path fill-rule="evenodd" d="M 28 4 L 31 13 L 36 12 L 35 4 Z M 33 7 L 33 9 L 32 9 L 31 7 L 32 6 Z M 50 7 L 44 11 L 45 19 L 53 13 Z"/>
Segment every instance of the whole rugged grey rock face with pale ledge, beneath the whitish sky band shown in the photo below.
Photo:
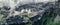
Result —
<path fill-rule="evenodd" d="M 21 3 L 23 4 L 21 5 L 18 0 L 19 4 L 17 4 L 17 1 L 11 3 L 12 1 L 8 6 L 0 7 L 0 15 L 3 16 L 3 22 L 0 22 L 0 25 L 27 25 L 29 23 L 32 23 L 32 25 L 46 25 L 50 19 L 50 21 L 56 22 L 56 19 L 59 18 L 57 16 L 60 16 L 58 2 L 49 2 L 48 0 L 46 3 L 44 1 L 26 3 L 28 1 L 26 0 L 24 1 L 26 4 Z"/>

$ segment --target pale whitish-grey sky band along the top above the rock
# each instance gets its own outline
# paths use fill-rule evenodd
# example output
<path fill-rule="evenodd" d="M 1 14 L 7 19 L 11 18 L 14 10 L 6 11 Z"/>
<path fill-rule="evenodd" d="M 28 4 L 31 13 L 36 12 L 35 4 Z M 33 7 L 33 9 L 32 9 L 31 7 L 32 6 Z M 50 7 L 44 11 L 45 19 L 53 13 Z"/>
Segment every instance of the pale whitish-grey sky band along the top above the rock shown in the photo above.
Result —
<path fill-rule="evenodd" d="M 6 5 L 14 7 L 17 4 L 39 3 L 39 2 L 54 2 L 55 0 L 0 0 L 0 6 Z M 13 6 L 12 6 L 13 5 Z"/>

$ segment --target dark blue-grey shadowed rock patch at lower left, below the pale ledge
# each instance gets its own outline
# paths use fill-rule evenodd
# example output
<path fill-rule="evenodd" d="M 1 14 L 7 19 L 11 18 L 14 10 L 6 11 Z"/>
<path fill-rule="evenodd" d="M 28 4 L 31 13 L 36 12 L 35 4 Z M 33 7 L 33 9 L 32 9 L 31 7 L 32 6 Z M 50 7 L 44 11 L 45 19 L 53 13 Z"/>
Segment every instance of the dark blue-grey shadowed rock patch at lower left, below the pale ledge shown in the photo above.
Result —
<path fill-rule="evenodd" d="M 22 18 L 18 15 L 16 15 L 15 17 L 10 17 L 9 19 L 6 19 L 6 22 L 8 24 L 13 24 L 13 23 L 22 23 Z"/>

